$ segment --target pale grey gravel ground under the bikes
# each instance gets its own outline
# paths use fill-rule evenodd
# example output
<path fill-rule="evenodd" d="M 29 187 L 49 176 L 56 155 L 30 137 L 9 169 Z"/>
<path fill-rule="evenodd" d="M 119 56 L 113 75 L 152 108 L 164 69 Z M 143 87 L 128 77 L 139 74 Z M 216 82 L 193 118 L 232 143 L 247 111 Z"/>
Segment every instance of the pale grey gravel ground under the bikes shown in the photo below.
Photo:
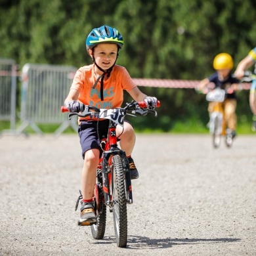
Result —
<path fill-rule="evenodd" d="M 0 255 L 256 255 L 255 136 L 137 135 L 128 243 L 77 226 L 77 135 L 0 138 Z"/>

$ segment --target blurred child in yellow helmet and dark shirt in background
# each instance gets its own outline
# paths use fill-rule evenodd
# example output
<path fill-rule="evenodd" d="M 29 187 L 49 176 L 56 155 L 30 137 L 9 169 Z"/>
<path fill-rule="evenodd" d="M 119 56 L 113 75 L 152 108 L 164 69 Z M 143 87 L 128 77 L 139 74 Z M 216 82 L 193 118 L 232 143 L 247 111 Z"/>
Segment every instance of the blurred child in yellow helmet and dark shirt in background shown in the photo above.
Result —
<path fill-rule="evenodd" d="M 228 53 L 220 53 L 213 60 L 214 74 L 200 81 L 198 89 L 203 91 L 209 83 L 213 83 L 214 89 L 226 90 L 226 98 L 223 102 L 224 117 L 228 129 L 231 129 L 232 137 L 236 136 L 236 94 L 238 89 L 238 79 L 232 77 L 231 70 L 234 67 L 232 56 Z M 211 115 L 215 102 L 209 102 L 208 111 Z"/>

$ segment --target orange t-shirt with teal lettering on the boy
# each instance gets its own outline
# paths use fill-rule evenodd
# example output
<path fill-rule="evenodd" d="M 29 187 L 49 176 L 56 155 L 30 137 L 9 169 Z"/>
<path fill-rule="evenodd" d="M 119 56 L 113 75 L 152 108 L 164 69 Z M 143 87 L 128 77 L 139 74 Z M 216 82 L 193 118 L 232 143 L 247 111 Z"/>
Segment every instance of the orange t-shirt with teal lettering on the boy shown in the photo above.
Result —
<path fill-rule="evenodd" d="M 137 85 L 133 83 L 133 79 L 131 79 L 124 67 L 115 65 L 110 77 L 107 77 L 107 75 L 104 77 L 104 100 L 101 100 L 100 81 L 98 81 L 95 89 L 92 88 L 97 78 L 93 68 L 94 65 L 91 64 L 79 68 L 70 89 L 79 91 L 78 100 L 83 104 L 95 106 L 96 108 L 120 108 L 123 102 L 123 90 L 129 92 Z M 96 118 L 91 116 L 86 117 L 86 119 Z"/>

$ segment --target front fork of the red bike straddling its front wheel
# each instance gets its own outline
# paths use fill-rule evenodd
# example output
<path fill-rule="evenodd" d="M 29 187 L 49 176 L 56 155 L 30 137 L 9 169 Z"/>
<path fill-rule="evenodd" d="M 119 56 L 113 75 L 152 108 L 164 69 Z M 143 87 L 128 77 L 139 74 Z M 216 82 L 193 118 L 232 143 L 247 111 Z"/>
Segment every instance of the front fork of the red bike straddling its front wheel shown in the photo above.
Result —
<path fill-rule="evenodd" d="M 133 203 L 133 193 L 131 186 L 131 174 L 129 169 L 129 162 L 127 157 L 125 156 L 125 152 L 120 150 L 119 148 L 110 148 L 109 151 L 105 151 L 102 153 L 102 178 L 103 178 L 103 192 L 104 192 L 104 200 L 106 205 L 112 206 L 112 195 L 110 194 L 110 183 L 112 178 L 112 157 L 115 155 L 121 156 L 123 160 L 123 169 L 125 171 L 125 190 L 126 190 L 126 198 L 127 203 Z"/>

